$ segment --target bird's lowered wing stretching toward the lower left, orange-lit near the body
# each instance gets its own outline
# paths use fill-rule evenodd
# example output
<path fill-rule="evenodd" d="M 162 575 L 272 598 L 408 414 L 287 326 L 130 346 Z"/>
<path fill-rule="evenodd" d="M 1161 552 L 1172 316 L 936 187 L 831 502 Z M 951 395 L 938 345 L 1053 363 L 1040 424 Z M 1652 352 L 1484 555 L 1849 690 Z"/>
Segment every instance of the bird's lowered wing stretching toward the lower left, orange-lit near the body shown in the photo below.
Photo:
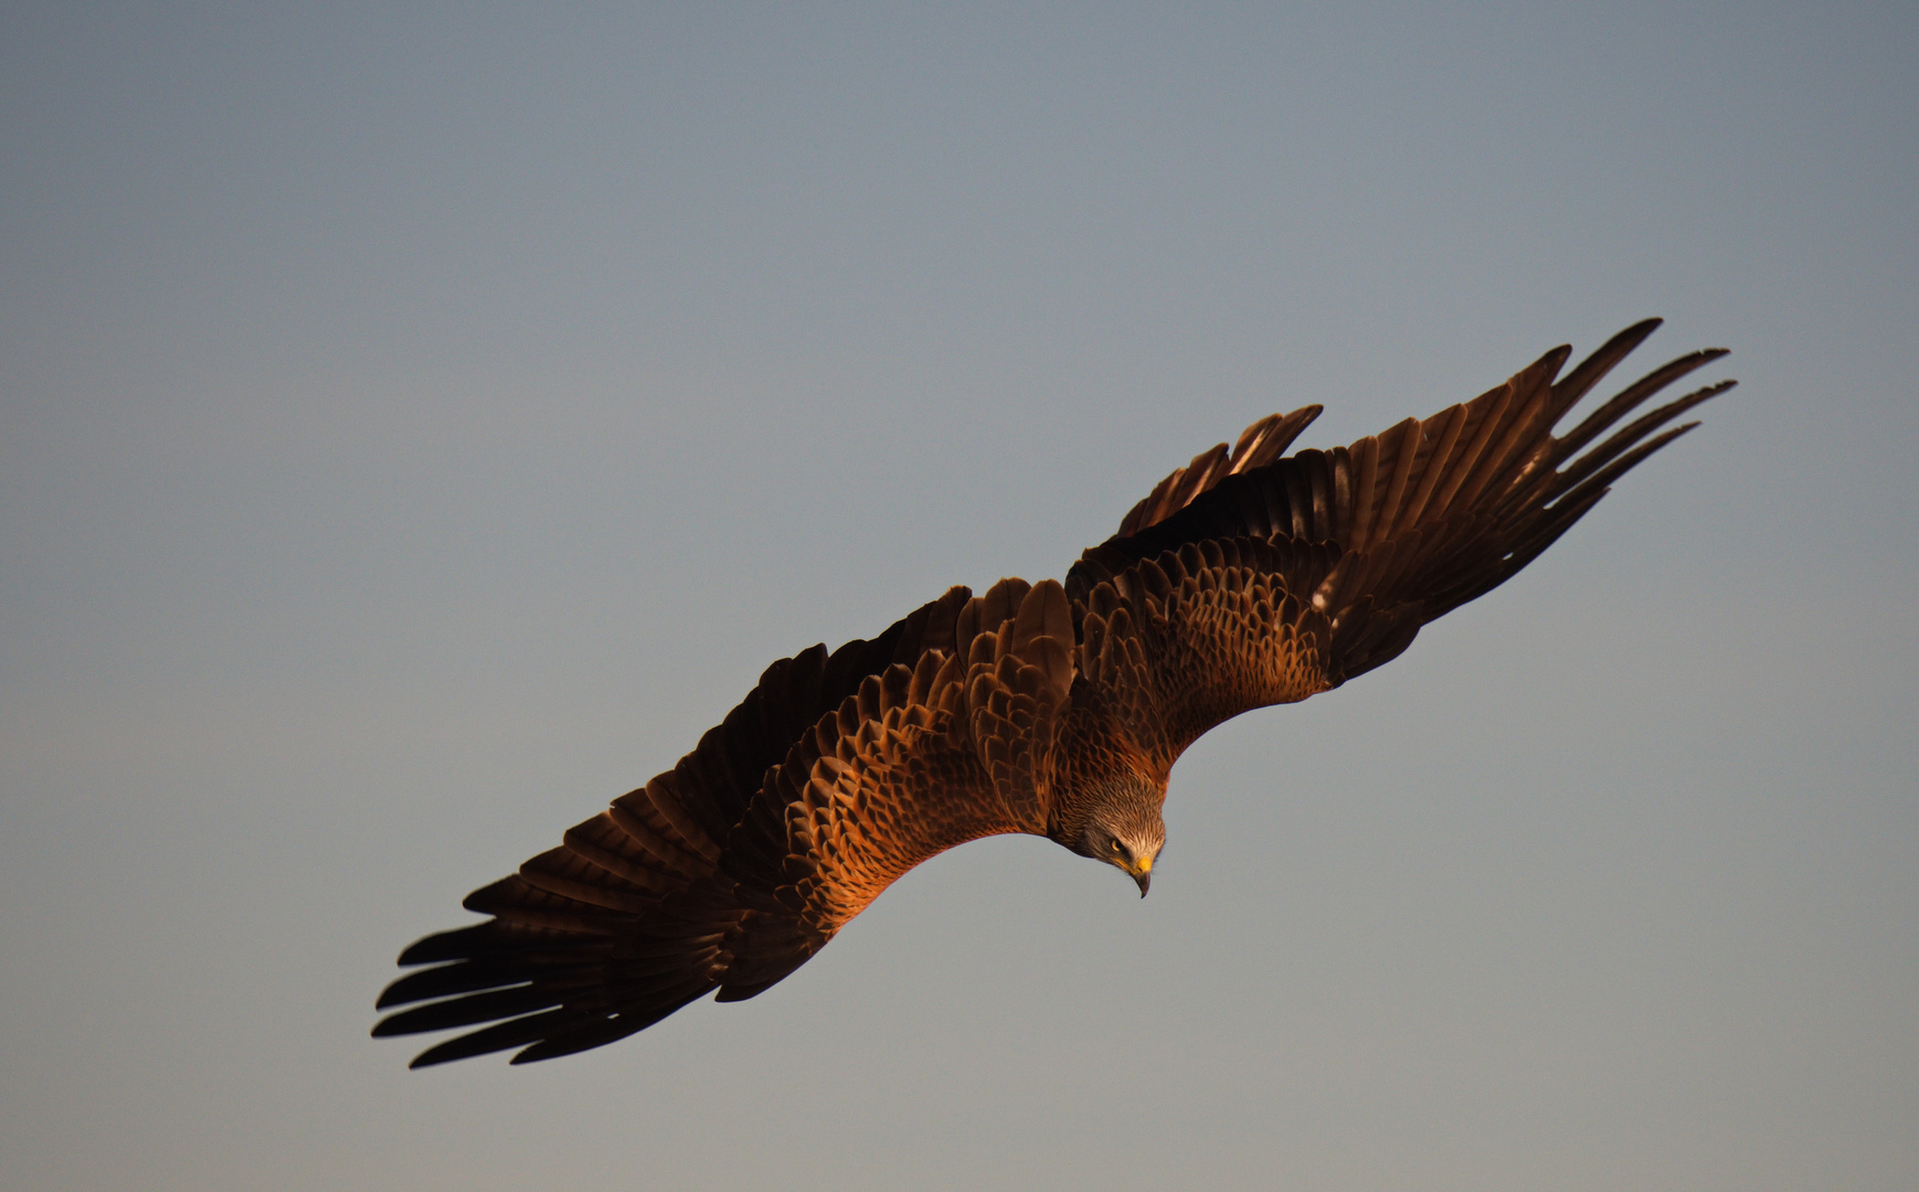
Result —
<path fill-rule="evenodd" d="M 547 1060 L 718 990 L 750 998 L 919 862 L 1044 831 L 1073 687 L 1059 584 L 956 587 L 873 641 L 814 647 L 681 762 L 468 894 L 491 919 L 430 935 L 374 1035 L 455 1027 L 415 1067 L 524 1048 Z"/>

